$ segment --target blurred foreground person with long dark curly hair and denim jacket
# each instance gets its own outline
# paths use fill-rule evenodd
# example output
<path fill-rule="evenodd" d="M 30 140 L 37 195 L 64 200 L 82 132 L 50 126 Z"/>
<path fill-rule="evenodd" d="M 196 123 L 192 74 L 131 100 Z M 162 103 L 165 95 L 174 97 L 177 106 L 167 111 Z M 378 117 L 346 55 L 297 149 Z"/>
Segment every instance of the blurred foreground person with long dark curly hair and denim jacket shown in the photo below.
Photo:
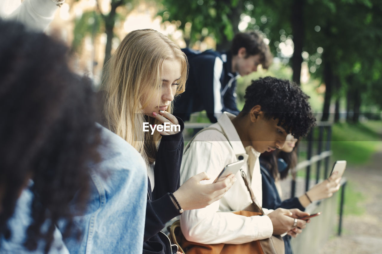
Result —
<path fill-rule="evenodd" d="M 138 151 L 95 123 L 62 42 L 2 20 L 0 38 L 0 253 L 141 252 Z"/>

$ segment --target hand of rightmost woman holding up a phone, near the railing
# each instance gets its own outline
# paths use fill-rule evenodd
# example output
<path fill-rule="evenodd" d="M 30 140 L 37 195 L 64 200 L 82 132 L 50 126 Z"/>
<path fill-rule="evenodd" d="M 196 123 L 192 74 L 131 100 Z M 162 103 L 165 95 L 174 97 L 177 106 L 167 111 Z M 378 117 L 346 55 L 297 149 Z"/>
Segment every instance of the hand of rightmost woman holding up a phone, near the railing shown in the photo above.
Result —
<path fill-rule="evenodd" d="M 338 172 L 334 172 L 332 175 L 330 175 L 329 178 L 320 183 L 317 183 L 306 193 L 311 199 L 311 201 L 330 198 L 331 196 L 333 196 L 333 193 L 337 192 L 340 189 L 341 177 L 337 177 L 337 174 Z"/>

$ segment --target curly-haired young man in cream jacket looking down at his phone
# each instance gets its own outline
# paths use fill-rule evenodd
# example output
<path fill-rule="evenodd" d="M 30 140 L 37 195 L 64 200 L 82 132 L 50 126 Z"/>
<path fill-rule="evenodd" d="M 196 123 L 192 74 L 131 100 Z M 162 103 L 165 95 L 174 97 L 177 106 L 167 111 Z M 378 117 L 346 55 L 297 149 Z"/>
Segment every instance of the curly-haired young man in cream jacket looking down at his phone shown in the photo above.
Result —
<path fill-rule="evenodd" d="M 254 80 L 246 88 L 244 98 L 244 108 L 238 116 L 224 113 L 216 124 L 210 125 L 213 129 L 202 130 L 194 137 L 183 155 L 181 183 L 189 175 L 199 173 L 199 165 L 208 165 L 207 174 L 213 180 L 227 164 L 243 159 L 246 163 L 242 170 L 261 206 L 260 154 L 282 148 L 288 133 L 295 137 L 306 135 L 316 119 L 309 97 L 288 80 Z M 240 172 L 236 178 L 219 201 L 183 213 L 180 225 L 188 241 L 245 244 L 284 233 L 296 236 L 306 227 L 305 220 L 296 218 L 308 213 L 299 209 L 263 209 L 267 216 L 233 214 L 232 211 L 244 210 L 253 203 Z"/>

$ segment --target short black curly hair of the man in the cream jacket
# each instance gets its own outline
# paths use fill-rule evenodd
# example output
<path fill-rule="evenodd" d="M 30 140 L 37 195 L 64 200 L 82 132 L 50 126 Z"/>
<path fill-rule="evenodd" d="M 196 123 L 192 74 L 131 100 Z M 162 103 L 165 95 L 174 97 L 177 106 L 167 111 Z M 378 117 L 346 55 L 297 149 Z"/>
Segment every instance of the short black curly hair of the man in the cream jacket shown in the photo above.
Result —
<path fill-rule="evenodd" d="M 274 77 L 252 80 L 245 90 L 244 99 L 241 113 L 249 113 L 254 106 L 260 105 L 267 119 L 278 119 L 278 125 L 295 138 L 305 136 L 315 125 L 309 96 L 289 80 Z"/>

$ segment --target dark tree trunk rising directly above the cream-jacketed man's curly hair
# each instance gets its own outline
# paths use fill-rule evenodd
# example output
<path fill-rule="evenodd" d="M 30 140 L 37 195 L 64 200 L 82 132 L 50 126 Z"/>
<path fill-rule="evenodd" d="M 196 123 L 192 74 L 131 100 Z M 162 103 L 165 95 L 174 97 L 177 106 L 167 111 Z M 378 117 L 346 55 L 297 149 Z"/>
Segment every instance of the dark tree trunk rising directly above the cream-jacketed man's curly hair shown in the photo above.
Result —
<path fill-rule="evenodd" d="M 293 81 L 300 84 L 301 79 L 301 64 L 303 63 L 303 41 L 304 41 L 304 0 L 294 0 L 292 3 L 291 23 L 293 32 L 293 43 L 295 50 L 292 56 Z"/>

